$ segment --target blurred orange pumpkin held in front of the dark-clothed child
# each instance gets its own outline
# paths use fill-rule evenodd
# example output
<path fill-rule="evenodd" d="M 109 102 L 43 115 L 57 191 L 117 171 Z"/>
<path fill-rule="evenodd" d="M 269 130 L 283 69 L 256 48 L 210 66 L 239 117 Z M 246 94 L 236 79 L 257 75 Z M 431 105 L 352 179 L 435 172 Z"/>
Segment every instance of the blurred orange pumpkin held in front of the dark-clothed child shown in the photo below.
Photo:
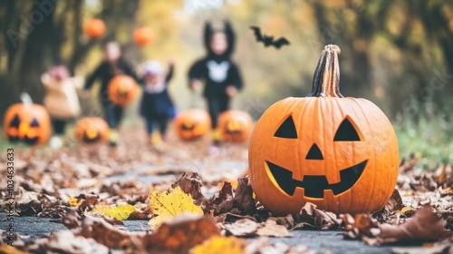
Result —
<path fill-rule="evenodd" d="M 117 75 L 111 79 L 107 88 L 109 99 L 117 105 L 127 105 L 139 93 L 139 85 L 128 75 Z"/>

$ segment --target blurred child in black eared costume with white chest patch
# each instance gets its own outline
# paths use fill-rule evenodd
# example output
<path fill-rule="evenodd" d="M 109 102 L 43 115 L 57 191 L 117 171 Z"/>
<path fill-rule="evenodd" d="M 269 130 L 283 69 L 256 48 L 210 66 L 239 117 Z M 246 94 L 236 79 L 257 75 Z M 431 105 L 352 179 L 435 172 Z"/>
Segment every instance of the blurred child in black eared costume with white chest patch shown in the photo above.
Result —
<path fill-rule="evenodd" d="M 242 78 L 236 64 L 231 60 L 235 46 L 235 34 L 226 22 L 224 31 L 213 31 L 211 24 L 205 24 L 204 43 L 207 56 L 193 64 L 188 72 L 191 89 L 198 89 L 201 81 L 205 82 L 203 95 L 213 129 L 213 147 L 216 153 L 220 144 L 220 132 L 217 130 L 217 116 L 229 108 L 229 102 L 238 90 L 242 89 Z"/>

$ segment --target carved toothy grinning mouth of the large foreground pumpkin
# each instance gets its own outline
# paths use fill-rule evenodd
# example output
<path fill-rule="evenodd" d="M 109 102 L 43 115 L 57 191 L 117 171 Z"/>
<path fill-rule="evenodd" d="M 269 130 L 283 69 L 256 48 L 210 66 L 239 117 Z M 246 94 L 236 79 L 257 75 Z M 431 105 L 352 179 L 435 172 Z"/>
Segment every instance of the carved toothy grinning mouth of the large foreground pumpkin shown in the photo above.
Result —
<path fill-rule="evenodd" d="M 265 161 L 280 189 L 289 196 L 294 195 L 295 188 L 304 188 L 304 196 L 308 198 L 323 199 L 324 190 L 332 190 L 333 195 L 349 190 L 361 177 L 361 173 L 368 162 L 362 161 L 347 169 L 340 171 L 340 182 L 330 184 L 324 175 L 305 175 L 302 181 L 293 179 L 293 172 L 288 171 L 272 162 Z"/>

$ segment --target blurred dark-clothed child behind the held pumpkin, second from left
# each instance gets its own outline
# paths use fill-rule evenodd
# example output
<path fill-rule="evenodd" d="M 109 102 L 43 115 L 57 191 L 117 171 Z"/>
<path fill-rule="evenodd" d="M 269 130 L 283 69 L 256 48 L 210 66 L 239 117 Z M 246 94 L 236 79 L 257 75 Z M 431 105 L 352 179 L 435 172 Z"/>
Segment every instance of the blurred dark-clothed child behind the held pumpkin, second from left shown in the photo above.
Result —
<path fill-rule="evenodd" d="M 104 46 L 104 60 L 94 72 L 87 78 L 84 91 L 85 94 L 92 88 L 97 79 L 101 79 L 100 100 L 104 112 L 104 118 L 111 128 L 109 142 L 112 146 L 118 143 L 118 127 L 123 115 L 123 106 L 111 103 L 107 94 L 109 82 L 115 75 L 125 74 L 138 80 L 132 65 L 121 57 L 120 44 L 109 42 Z"/>

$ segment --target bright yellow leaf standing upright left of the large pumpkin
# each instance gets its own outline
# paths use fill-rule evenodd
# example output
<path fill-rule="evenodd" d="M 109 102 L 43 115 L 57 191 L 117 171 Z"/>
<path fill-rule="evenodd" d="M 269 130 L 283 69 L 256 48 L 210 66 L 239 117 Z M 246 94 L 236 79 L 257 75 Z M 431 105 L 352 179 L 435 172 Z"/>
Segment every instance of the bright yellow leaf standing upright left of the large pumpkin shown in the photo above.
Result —
<path fill-rule="evenodd" d="M 192 197 L 184 193 L 180 187 L 175 188 L 171 192 L 152 191 L 149 194 L 149 207 L 155 215 L 149 220 L 151 229 L 159 227 L 165 220 L 176 217 L 181 213 L 203 214 L 201 207 L 194 204 Z"/>

